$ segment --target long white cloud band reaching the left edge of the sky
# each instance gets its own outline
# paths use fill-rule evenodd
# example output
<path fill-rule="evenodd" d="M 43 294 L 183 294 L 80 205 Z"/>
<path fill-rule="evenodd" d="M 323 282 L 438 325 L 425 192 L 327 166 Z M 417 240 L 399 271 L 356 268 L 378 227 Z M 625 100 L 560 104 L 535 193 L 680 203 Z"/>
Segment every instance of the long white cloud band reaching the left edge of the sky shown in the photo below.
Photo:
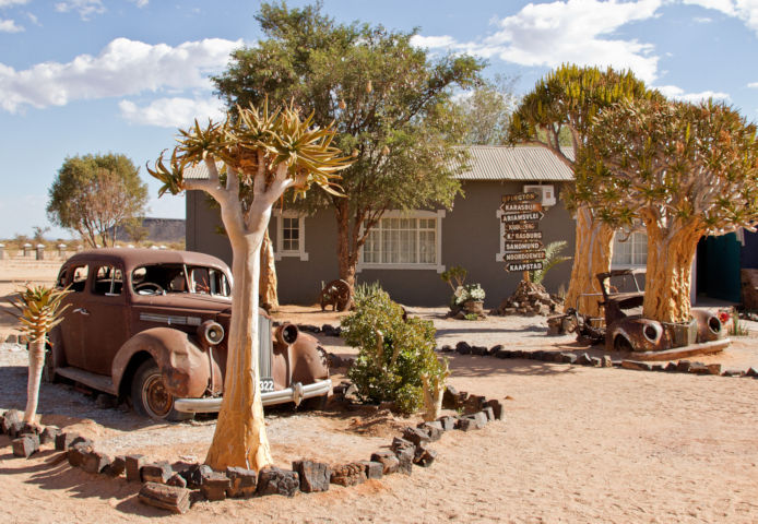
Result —
<path fill-rule="evenodd" d="M 241 44 L 206 38 L 171 47 L 116 38 L 98 56 L 80 55 L 68 63 L 43 62 L 24 71 L 0 63 L 0 108 L 16 112 L 76 99 L 209 90 L 208 74 L 221 71 Z"/>

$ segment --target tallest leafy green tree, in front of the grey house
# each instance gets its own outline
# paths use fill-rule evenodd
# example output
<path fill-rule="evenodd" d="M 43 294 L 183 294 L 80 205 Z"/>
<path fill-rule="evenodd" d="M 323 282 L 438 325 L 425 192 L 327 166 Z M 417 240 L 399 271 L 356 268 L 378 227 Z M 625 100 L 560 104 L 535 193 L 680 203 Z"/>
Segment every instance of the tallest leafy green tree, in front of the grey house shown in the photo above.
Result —
<path fill-rule="evenodd" d="M 316 123 L 334 121 L 335 145 L 355 158 L 341 181 L 347 198 L 313 193 L 300 209 L 334 210 L 340 278 L 353 286 L 360 247 L 387 210 L 452 204 L 465 153 L 454 148 L 464 127 L 451 90 L 476 85 L 483 66 L 433 61 L 411 46 L 413 32 L 336 24 L 320 9 L 263 3 L 256 20 L 267 39 L 235 51 L 214 82 L 229 106 L 292 99 Z"/>

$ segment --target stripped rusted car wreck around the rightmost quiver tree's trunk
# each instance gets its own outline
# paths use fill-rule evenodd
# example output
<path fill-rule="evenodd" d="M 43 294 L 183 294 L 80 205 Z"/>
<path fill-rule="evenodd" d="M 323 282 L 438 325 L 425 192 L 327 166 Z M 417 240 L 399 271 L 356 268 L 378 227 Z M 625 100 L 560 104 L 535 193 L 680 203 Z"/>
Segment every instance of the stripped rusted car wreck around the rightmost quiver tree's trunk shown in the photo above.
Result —
<path fill-rule="evenodd" d="M 597 275 L 603 293 L 600 303 L 605 311 L 607 350 L 632 352 L 635 357 L 655 360 L 675 355 L 715 353 L 730 344 L 719 317 L 704 309 L 692 309 L 690 322 L 686 324 L 643 318 L 644 291 L 640 290 L 638 281 L 643 274 L 640 270 L 614 270 Z M 626 281 L 627 288 L 631 282 L 633 290 L 612 293 L 612 279 L 618 278 Z"/>

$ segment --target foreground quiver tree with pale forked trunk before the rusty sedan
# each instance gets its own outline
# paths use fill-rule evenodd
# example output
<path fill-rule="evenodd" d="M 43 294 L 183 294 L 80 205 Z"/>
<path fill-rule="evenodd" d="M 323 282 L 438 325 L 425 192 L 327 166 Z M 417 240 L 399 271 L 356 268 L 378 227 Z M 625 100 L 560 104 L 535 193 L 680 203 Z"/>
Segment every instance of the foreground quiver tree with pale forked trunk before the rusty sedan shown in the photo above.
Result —
<path fill-rule="evenodd" d="M 213 196 L 233 253 L 224 398 L 205 463 L 260 469 L 272 463 L 257 366 L 260 249 L 271 210 L 291 188 L 296 196 L 313 183 L 339 194 L 336 171 L 350 162 L 331 145 L 334 130 L 313 127 L 312 115 L 304 119 L 292 106 L 237 108 L 223 124 L 202 129 L 196 122 L 180 132 L 170 164 L 162 154 L 149 172 L 163 182 L 159 194 L 202 190 Z M 199 163 L 209 178 L 185 178 L 185 167 Z"/>

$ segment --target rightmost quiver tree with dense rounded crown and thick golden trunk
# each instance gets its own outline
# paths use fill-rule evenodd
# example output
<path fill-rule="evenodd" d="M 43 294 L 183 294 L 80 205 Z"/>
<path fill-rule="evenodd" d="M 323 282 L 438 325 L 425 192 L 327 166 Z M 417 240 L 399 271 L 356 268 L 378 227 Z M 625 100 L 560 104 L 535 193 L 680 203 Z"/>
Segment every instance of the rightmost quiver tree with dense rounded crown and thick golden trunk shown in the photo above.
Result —
<path fill-rule="evenodd" d="M 596 216 L 648 233 L 642 314 L 650 319 L 689 319 L 703 235 L 758 224 L 756 126 L 722 104 L 619 104 L 597 119 L 578 167 L 581 198 Z"/>

